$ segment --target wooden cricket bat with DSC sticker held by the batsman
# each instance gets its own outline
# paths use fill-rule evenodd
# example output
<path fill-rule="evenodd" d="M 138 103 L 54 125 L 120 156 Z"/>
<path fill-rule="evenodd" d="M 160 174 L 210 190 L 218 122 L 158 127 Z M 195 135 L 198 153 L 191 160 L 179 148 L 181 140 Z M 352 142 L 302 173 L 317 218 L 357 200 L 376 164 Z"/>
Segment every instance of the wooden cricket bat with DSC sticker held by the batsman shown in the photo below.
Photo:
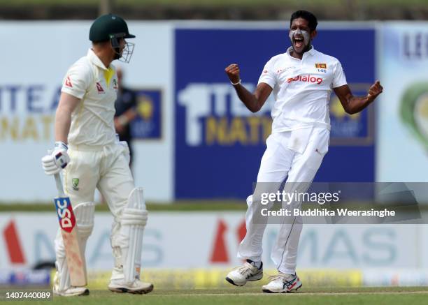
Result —
<path fill-rule="evenodd" d="M 66 260 L 69 267 L 71 285 L 75 287 L 87 285 L 85 257 L 78 242 L 78 228 L 76 217 L 71 207 L 70 198 L 65 195 L 59 173 L 55 174 L 58 197 L 54 198 L 55 209 L 61 228 L 62 239 L 66 251 Z"/>

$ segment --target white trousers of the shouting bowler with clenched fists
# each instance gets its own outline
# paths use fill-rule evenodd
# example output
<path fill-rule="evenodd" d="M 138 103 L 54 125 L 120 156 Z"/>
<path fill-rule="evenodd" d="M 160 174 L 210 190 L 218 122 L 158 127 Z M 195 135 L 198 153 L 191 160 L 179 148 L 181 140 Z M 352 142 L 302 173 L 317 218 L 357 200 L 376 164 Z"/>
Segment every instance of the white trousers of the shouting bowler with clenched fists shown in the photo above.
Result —
<path fill-rule="evenodd" d="M 297 139 L 297 140 L 296 140 Z M 287 192 L 301 192 L 308 190 L 318 168 L 320 168 L 322 158 L 328 151 L 329 131 L 326 128 L 313 128 L 307 138 L 307 145 L 299 153 L 290 149 L 290 141 L 299 139 L 292 136 L 292 132 L 273 133 L 266 140 L 266 151 L 260 163 L 258 182 L 269 182 L 269 185 L 277 186 L 285 181 L 284 189 Z M 306 140 L 305 140 L 306 142 Z M 294 183 L 308 182 L 308 183 Z M 264 184 L 266 185 L 266 184 Z M 257 188 L 257 186 L 256 186 Z M 294 202 L 296 203 L 296 202 Z M 253 202 L 252 195 L 247 199 L 248 210 L 245 214 L 245 224 L 247 233 L 238 248 L 238 258 L 250 259 L 256 262 L 262 261 L 262 239 L 266 223 L 255 223 L 253 209 L 260 204 Z M 299 206 L 299 202 L 297 202 Z M 302 229 L 301 216 L 283 216 L 283 223 L 280 224 L 276 244 L 273 246 L 271 259 L 278 271 L 285 274 L 294 274 L 297 265 L 297 248 Z M 277 218 L 278 219 L 278 218 Z"/>

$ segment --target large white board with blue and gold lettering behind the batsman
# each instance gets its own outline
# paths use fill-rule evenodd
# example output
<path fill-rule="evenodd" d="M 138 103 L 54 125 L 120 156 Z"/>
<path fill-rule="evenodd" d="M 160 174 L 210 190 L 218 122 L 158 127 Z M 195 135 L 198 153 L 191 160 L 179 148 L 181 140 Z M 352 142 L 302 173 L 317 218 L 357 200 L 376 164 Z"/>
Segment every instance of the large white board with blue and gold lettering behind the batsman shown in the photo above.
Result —
<path fill-rule="evenodd" d="M 53 147 L 55 108 L 66 70 L 90 47 L 91 22 L 1 22 L 0 201 L 50 202 L 55 190 L 41 157 Z M 162 138 L 135 143 L 134 176 L 146 199 L 173 198 L 173 30 L 168 23 L 129 22 L 136 47 L 124 83 L 162 92 Z"/>

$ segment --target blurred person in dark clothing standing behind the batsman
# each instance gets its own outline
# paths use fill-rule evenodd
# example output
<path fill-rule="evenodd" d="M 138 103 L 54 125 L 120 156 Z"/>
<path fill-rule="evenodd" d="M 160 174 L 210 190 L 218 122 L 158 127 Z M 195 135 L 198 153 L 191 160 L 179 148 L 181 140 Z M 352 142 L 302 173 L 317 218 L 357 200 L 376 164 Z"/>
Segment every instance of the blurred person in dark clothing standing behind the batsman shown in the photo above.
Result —
<path fill-rule="evenodd" d="M 117 100 L 115 101 L 115 129 L 121 141 L 126 141 L 129 146 L 132 164 L 133 149 L 132 149 L 132 134 L 131 121 L 136 118 L 136 92 L 123 87 L 122 85 L 123 71 L 117 67 Z"/>

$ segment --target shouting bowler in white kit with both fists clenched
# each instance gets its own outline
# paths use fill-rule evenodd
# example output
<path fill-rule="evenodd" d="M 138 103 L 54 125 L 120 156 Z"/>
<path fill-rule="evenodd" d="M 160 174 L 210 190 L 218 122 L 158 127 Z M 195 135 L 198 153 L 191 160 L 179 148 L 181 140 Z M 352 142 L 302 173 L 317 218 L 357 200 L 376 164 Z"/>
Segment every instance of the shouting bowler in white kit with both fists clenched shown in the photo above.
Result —
<path fill-rule="evenodd" d="M 305 10 L 292 14 L 292 46 L 266 63 L 254 93 L 241 84 L 237 64 L 225 69 L 236 94 L 251 112 L 259 111 L 272 92 L 275 99 L 272 133 L 266 140 L 255 193 L 259 183 L 279 188 L 285 179 L 284 189 L 288 193 L 308 190 L 329 147 L 331 90 L 348 114 L 364 110 L 383 91 L 376 81 L 366 96 L 352 95 L 338 59 L 318 52 L 312 45 L 317 24 L 315 15 Z M 246 262 L 226 277 L 238 286 L 263 277 L 262 239 L 266 224 L 254 221 L 260 199 L 250 195 L 247 204 L 247 233 L 238 248 L 238 258 Z M 292 206 L 299 207 L 299 202 L 292 202 Z M 301 287 L 296 264 L 302 223 L 301 216 L 284 216 L 271 255 L 278 274 L 262 287 L 263 292 L 294 292 Z"/>

